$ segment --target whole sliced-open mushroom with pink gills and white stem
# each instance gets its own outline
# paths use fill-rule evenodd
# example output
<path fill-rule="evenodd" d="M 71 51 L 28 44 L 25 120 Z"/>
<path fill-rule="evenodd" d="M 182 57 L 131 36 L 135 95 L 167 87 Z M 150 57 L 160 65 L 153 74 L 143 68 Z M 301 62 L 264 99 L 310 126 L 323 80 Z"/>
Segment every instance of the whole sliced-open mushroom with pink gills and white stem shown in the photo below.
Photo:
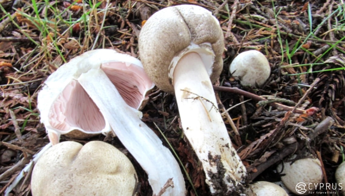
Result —
<path fill-rule="evenodd" d="M 163 195 L 184 195 L 176 159 L 137 110 L 152 86 L 134 57 L 111 49 L 89 51 L 49 76 L 38 97 L 41 122 L 52 133 L 53 144 L 55 136 L 71 130 L 113 131 L 148 174 L 154 194 L 172 178 L 174 187 Z"/>

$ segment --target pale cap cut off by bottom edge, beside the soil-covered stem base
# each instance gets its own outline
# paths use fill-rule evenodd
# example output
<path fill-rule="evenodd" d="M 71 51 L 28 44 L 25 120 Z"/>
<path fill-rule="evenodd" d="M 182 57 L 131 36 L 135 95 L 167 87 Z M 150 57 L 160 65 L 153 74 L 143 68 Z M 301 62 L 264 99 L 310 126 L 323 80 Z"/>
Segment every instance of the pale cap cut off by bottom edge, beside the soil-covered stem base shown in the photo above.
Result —
<path fill-rule="evenodd" d="M 258 181 L 250 184 L 246 192 L 250 196 L 288 196 L 288 194 L 282 187 L 266 181 Z"/>

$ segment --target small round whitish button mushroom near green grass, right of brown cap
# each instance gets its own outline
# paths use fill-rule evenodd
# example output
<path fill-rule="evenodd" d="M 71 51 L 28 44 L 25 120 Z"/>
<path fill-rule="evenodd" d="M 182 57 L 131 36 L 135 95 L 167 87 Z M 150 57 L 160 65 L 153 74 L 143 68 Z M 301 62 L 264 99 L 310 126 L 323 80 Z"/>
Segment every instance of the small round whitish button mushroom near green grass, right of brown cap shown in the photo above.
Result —
<path fill-rule="evenodd" d="M 265 55 L 257 50 L 239 53 L 231 62 L 229 70 L 242 85 L 252 86 L 262 86 L 271 72 Z"/>

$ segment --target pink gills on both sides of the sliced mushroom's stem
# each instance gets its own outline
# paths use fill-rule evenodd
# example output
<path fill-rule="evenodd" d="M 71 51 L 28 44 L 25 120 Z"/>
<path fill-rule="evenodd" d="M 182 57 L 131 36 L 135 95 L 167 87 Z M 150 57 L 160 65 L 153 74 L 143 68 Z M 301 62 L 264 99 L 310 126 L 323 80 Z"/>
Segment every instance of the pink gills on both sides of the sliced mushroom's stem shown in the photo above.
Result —
<path fill-rule="evenodd" d="M 137 109 L 147 99 L 147 89 L 151 86 L 148 86 L 150 82 L 142 68 L 125 62 L 107 62 L 102 63 L 101 69 L 129 106 Z M 95 134 L 106 126 L 99 108 L 75 79 L 53 102 L 49 123 L 62 134 L 72 130 Z"/>

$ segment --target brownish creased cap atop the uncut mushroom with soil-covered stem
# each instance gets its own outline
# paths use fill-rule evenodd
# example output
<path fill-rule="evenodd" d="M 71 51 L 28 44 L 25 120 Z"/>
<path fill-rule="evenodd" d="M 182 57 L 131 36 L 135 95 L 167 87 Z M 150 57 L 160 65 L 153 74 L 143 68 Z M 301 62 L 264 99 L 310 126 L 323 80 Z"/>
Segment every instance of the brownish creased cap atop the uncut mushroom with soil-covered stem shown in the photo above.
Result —
<path fill-rule="evenodd" d="M 145 72 L 169 93 L 174 93 L 174 63 L 185 53 L 199 53 L 212 83 L 223 69 L 223 31 L 212 13 L 200 6 L 172 6 L 154 13 L 142 27 L 138 43 Z"/>

